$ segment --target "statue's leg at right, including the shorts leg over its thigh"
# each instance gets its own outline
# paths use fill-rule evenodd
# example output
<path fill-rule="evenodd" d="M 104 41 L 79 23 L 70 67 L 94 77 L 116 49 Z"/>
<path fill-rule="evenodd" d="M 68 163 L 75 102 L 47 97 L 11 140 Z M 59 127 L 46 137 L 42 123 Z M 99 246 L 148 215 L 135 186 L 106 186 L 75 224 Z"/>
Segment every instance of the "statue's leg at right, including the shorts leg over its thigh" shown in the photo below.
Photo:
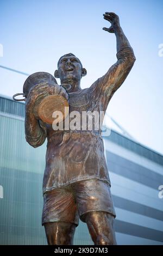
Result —
<path fill-rule="evenodd" d="M 97 179 L 73 184 L 80 220 L 87 223 L 95 245 L 116 245 L 116 217 L 110 186 Z"/>

